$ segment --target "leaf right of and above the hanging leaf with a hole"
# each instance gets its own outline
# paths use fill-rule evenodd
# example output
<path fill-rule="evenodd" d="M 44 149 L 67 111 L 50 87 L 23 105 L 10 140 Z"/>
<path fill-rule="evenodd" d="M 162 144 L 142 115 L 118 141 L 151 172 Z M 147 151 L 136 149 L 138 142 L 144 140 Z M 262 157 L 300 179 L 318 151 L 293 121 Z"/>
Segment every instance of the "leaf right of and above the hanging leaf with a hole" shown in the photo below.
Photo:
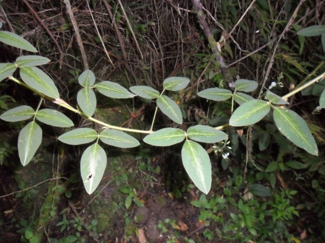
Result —
<path fill-rule="evenodd" d="M 115 129 L 107 129 L 100 134 L 103 143 L 119 148 L 133 148 L 140 145 L 134 137 Z"/>

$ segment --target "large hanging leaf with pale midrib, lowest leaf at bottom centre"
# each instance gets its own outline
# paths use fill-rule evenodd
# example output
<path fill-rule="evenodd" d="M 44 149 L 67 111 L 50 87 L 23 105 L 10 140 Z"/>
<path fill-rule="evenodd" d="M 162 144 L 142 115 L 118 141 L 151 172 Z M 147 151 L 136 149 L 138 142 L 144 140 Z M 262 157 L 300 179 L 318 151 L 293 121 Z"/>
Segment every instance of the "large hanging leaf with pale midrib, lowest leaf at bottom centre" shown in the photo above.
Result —
<path fill-rule="evenodd" d="M 184 168 L 193 183 L 205 194 L 211 188 L 211 163 L 208 153 L 198 143 L 186 141 L 182 148 Z"/>

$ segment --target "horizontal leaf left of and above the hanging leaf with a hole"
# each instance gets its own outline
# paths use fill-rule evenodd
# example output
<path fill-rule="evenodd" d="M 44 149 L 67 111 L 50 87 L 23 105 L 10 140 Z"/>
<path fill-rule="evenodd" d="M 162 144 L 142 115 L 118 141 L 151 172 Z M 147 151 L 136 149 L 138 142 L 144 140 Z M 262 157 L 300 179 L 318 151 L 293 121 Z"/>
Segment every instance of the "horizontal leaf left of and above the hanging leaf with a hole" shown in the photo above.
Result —
<path fill-rule="evenodd" d="M 79 145 L 84 143 L 90 143 L 98 137 L 95 130 L 91 128 L 77 128 L 62 134 L 57 139 L 63 143 L 71 145 Z"/>

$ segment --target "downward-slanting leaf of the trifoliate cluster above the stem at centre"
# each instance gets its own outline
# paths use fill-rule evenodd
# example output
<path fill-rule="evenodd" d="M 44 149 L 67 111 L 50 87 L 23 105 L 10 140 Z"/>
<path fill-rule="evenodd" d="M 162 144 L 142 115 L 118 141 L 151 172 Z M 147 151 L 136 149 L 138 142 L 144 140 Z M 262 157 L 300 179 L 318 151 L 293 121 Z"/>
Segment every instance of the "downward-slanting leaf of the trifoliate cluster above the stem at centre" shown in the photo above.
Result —
<path fill-rule="evenodd" d="M 157 99 L 157 106 L 165 115 L 175 121 L 175 123 L 182 124 L 183 117 L 181 109 L 171 98 L 166 95 L 160 96 Z"/>

